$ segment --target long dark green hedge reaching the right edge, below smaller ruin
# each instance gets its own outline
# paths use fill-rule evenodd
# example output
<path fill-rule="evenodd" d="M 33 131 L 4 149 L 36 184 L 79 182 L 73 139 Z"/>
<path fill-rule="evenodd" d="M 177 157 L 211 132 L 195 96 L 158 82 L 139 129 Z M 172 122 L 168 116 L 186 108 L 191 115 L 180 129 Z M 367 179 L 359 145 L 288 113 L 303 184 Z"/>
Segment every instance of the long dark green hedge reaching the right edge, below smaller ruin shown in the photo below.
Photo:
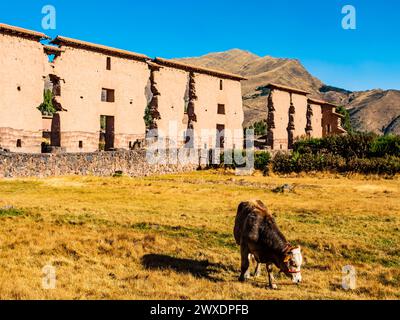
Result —
<path fill-rule="evenodd" d="M 291 155 L 278 154 L 275 172 L 334 171 L 364 174 L 400 173 L 400 137 L 352 133 L 322 139 L 304 139 L 294 144 Z"/>

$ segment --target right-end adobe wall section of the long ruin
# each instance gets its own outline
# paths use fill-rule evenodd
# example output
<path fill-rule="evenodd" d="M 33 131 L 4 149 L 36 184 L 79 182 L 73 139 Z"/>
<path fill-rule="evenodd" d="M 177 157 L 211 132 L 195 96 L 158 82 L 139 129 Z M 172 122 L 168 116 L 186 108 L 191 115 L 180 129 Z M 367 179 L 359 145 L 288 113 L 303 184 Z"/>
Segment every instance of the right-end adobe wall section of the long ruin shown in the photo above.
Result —
<path fill-rule="evenodd" d="M 223 82 L 220 90 L 220 80 Z M 240 81 L 220 79 L 206 74 L 196 74 L 195 113 L 197 122 L 194 123 L 196 135 L 201 136 L 197 141 L 198 148 L 213 147 L 216 144 L 217 125 L 225 126 L 225 148 L 241 148 L 243 145 L 243 102 Z M 218 104 L 225 105 L 225 114 L 218 114 Z M 210 130 L 207 136 L 202 129 Z"/>

